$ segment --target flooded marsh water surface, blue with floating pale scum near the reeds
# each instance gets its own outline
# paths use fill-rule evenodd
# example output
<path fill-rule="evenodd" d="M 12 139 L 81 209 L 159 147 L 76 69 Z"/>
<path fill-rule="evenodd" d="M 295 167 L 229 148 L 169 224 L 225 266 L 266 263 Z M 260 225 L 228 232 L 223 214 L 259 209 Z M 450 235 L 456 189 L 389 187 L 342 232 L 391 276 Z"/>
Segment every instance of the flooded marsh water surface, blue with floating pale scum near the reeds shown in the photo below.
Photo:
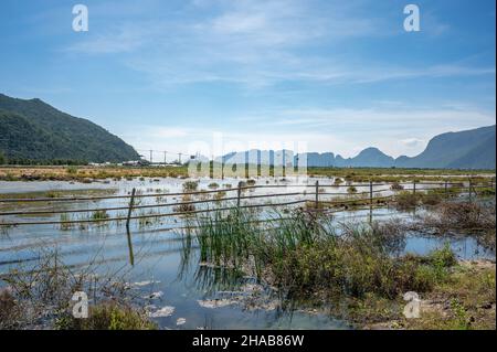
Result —
<path fill-rule="evenodd" d="M 314 186 L 317 179 L 309 179 L 307 184 L 284 188 L 292 180 L 260 179 L 261 188 L 247 190 L 251 195 L 296 193 L 298 195 L 278 195 L 271 199 L 273 203 L 302 200 L 315 200 Z M 129 195 L 133 189 L 137 194 L 158 194 L 157 196 L 137 199 L 139 205 L 158 205 L 176 203 L 182 200 L 181 193 L 186 180 L 180 179 L 135 179 L 133 181 L 101 181 L 91 184 L 77 182 L 33 181 L 0 182 L 2 198 L 46 196 L 98 196 Z M 202 179 L 199 190 L 232 189 L 239 180 Z M 329 180 L 321 180 L 330 184 Z M 213 183 L 216 183 L 214 186 Z M 277 188 L 269 188 L 277 185 Z M 332 190 L 322 191 L 320 200 L 332 195 L 327 192 L 343 193 L 350 185 L 337 185 Z M 409 190 L 409 186 L 405 189 Z M 393 193 L 390 188 L 374 185 L 376 194 L 381 196 Z M 54 195 L 55 192 L 55 195 Z M 59 193 L 57 193 L 59 192 Z M 369 186 L 358 185 L 357 193 L 369 192 Z M 230 198 L 230 194 L 224 195 Z M 159 195 L 160 194 L 160 195 Z M 166 195 L 165 195 L 166 194 Z M 233 194 L 236 195 L 236 194 Z M 211 196 L 211 195 L 200 195 Z M 200 199 L 198 196 L 198 199 Z M 378 195 L 376 195 L 378 196 Z M 225 201 L 219 204 L 235 204 Z M 243 200 L 242 205 L 248 200 Z M 267 203 L 267 199 L 251 200 L 252 203 Z M 22 202 L 0 203 L 0 212 L 12 211 L 61 211 L 92 210 L 95 207 L 126 207 L 129 199 L 106 199 L 74 202 Z M 303 205 L 303 204 L 300 204 Z M 201 203 L 198 209 L 213 206 Z M 296 207 L 299 205 L 289 205 Z M 137 209 L 134 215 L 147 215 L 173 212 L 167 209 Z M 258 211 L 261 218 L 271 218 L 272 209 Z M 402 218 L 406 222 L 423 212 L 402 212 L 389 207 L 372 210 L 346 210 L 329 214 L 332 223 L 353 223 Z M 108 216 L 126 216 L 126 210 L 109 211 Z M 92 213 L 68 213 L 64 220 L 83 220 Z M 86 216 L 86 217 L 85 217 Z M 3 227 L 0 232 L 0 276 L 10 270 L 30 270 L 43 252 L 56 250 L 62 262 L 74 270 L 92 266 L 102 276 L 125 280 L 134 299 L 146 307 L 149 317 L 165 329 L 350 329 L 347 320 L 335 319 L 326 310 L 309 311 L 281 297 L 277 289 L 267 287 L 255 277 L 243 276 L 234 269 L 221 268 L 200 262 L 198 246 L 192 245 L 189 260 L 184 259 L 184 231 L 181 227 L 191 225 L 188 216 L 176 215 L 133 220 L 129 232 L 125 223 L 102 222 L 74 225 L 21 225 Z M 3 223 L 22 222 L 57 222 L 60 214 L 4 215 Z M 424 255 L 433 249 L 450 244 L 459 259 L 495 259 L 495 253 L 483 247 L 472 236 L 435 237 L 411 232 L 398 248 L 399 254 L 413 253 Z M 0 280 L 0 285 L 6 285 Z"/>

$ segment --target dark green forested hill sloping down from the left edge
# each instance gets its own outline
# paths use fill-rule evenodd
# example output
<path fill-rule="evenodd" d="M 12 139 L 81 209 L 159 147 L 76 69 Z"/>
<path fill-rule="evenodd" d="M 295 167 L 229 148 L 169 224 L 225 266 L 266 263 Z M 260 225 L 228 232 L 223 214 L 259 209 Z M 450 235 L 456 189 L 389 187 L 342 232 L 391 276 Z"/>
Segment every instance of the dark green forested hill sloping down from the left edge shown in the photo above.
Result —
<path fill-rule="evenodd" d="M 2 94 L 0 152 L 8 160 L 139 159 L 133 147 L 89 120 L 62 113 L 40 99 L 15 99 Z"/>

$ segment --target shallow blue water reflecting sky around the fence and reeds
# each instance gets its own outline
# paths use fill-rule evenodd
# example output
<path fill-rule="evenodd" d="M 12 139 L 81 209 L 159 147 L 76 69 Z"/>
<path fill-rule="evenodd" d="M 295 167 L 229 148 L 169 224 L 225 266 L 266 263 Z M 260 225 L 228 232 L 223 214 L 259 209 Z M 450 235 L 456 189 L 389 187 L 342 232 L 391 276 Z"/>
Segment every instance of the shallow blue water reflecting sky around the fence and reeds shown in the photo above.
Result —
<path fill-rule="evenodd" d="M 154 181 L 109 181 L 108 183 L 74 183 L 35 181 L 35 182 L 0 182 L 0 193 L 45 192 L 53 190 L 95 190 L 115 189 L 116 194 L 128 194 L 133 188 L 144 193 L 172 193 L 180 192 L 184 180 L 160 179 Z M 208 189 L 213 182 L 209 179 L 200 181 L 199 189 Z M 224 184 L 236 185 L 237 180 L 218 180 L 221 188 Z M 257 184 L 285 184 L 269 179 L 261 179 Z M 313 184 L 314 180 L 309 180 Z M 322 183 L 331 183 L 324 180 Z M 307 188 L 303 188 L 307 189 Z M 334 188 L 334 192 L 346 192 L 347 186 Z M 378 188 L 379 189 L 379 188 Z M 313 189 L 310 189 L 313 190 Z M 359 189 L 359 192 L 366 191 Z M 295 189 L 257 189 L 248 191 L 251 194 L 295 192 Z M 313 191 L 302 199 L 314 200 Z M 325 195 L 321 195 L 325 198 Z M 290 196 L 275 198 L 273 202 L 294 200 Z M 140 204 L 158 204 L 163 202 L 177 202 L 178 196 L 163 196 L 142 199 Z M 257 202 L 264 202 L 263 199 Z M 106 206 L 126 206 L 128 200 L 103 200 L 97 202 L 76 203 L 31 203 L 22 204 L 23 210 L 47 209 L 92 209 Z M 6 204 L 0 204 L 0 211 L 11 211 Z M 148 211 L 148 210 L 147 210 Z M 170 212 L 171 209 L 161 209 L 160 212 Z M 110 216 L 123 212 L 112 212 Z M 126 213 L 126 212 L 125 212 Z M 140 212 L 137 211 L 138 214 Z M 145 212 L 144 212 L 145 213 Z M 263 214 L 264 216 L 264 214 Z M 372 216 L 373 220 L 388 220 L 391 217 L 412 218 L 411 213 L 400 213 L 389 209 L 376 209 L 368 211 L 343 212 L 334 215 L 334 222 L 363 222 Z M 22 221 L 59 221 L 60 215 L 53 216 L 3 216 L 4 222 Z M 36 263 L 41 248 L 57 249 L 63 262 L 75 268 L 83 268 L 89 262 L 98 266 L 101 273 L 115 273 L 116 279 L 126 274 L 127 279 L 139 282 L 134 286 L 139 296 L 152 296 L 142 298 L 144 303 L 150 307 L 152 312 L 163 317 L 154 318 L 162 328 L 172 329 L 348 329 L 345 321 L 332 319 L 326 314 L 308 313 L 299 309 L 282 309 L 281 302 L 273 295 L 250 292 L 254 299 L 222 300 L 222 292 L 240 294 L 241 288 L 253 284 L 253 278 L 243 278 L 232 273 L 222 271 L 209 267 L 199 266 L 198 253 L 193 248 L 193 259 L 189 266 L 181 264 L 183 253 L 183 239 L 179 231 L 171 230 L 184 225 L 179 216 L 160 218 L 144 226 L 138 221 L 131 222 L 130 247 L 124 224 L 116 225 L 89 225 L 84 228 L 75 226 L 71 230 L 62 230 L 57 225 L 25 225 L 8 228 L 0 233 L 0 274 L 12 268 L 29 269 Z M 451 244 L 461 258 L 474 259 L 482 257 L 495 258 L 495 254 L 485 250 L 475 239 L 465 238 L 430 238 L 410 235 L 405 238 L 403 253 L 426 254 L 427 252 Z M 133 257 L 133 260 L 131 260 Z M 134 262 L 131 265 L 131 262 Z M 150 282 L 146 282 L 150 281 Z M 245 297 L 247 292 L 240 294 Z M 251 296 L 252 295 L 252 296 Z M 218 300 L 215 300 L 218 299 Z M 210 303 L 218 302 L 212 308 Z M 225 302 L 225 305 L 220 305 Z M 180 319 L 180 320 L 178 320 Z M 184 320 L 183 320 L 184 319 Z M 177 324 L 178 321 L 180 324 Z M 182 323 L 184 322 L 184 323 Z"/>

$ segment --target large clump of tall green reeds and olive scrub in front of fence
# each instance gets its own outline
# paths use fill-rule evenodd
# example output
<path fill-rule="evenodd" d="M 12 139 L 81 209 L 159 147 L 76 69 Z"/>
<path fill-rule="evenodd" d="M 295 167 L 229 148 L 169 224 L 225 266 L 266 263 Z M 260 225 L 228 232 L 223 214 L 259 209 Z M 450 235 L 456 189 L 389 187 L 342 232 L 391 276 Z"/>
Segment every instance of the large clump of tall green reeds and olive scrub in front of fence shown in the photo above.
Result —
<path fill-rule="evenodd" d="M 392 256 L 402 238 L 394 227 L 357 225 L 337 232 L 329 218 L 308 212 L 288 217 L 274 211 L 272 217 L 275 222 L 262 223 L 256 214 L 240 210 L 197 218 L 201 260 L 243 269 L 288 295 L 385 298 L 430 290 L 444 279 L 441 266 L 453 265 L 435 260 L 437 253 Z"/>

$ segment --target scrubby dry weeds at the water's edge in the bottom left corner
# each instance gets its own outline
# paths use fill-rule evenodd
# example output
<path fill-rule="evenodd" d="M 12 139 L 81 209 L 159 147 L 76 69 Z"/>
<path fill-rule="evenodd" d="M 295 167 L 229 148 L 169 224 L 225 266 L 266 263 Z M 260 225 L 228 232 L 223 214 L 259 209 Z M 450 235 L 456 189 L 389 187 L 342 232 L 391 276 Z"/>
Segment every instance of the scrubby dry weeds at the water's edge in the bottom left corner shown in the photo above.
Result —
<path fill-rule="evenodd" d="M 41 249 L 29 267 L 9 270 L 1 278 L 7 288 L 0 289 L 0 329 L 151 328 L 144 313 L 127 303 L 131 297 L 121 276 L 125 274 L 97 275 L 94 260 L 76 273 L 56 250 Z M 93 298 L 88 320 L 73 318 L 76 291 Z"/>

